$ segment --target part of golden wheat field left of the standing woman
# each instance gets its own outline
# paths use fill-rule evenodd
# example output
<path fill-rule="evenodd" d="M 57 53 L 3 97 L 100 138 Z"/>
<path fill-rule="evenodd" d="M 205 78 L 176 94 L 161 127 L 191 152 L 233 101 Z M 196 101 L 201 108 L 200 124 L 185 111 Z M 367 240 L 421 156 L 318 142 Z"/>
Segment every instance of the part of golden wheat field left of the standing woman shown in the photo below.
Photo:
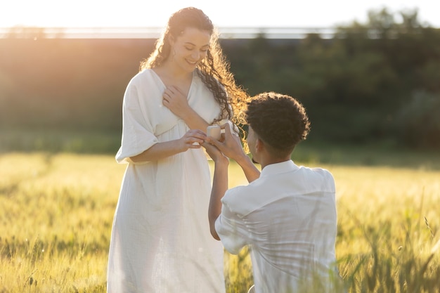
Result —
<path fill-rule="evenodd" d="M 105 292 L 123 168 L 108 156 L 0 157 L 0 292 Z"/>

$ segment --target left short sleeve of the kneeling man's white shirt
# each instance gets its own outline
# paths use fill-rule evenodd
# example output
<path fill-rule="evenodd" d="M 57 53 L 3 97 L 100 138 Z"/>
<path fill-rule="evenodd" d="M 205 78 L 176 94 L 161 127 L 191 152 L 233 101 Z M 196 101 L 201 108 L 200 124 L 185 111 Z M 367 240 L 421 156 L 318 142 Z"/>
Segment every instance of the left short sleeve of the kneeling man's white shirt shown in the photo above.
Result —
<path fill-rule="evenodd" d="M 225 195 L 226 196 L 226 195 Z M 238 254 L 249 244 L 249 237 L 245 222 L 235 214 L 222 200 L 221 214 L 216 219 L 215 230 L 225 249 L 231 254 Z"/>

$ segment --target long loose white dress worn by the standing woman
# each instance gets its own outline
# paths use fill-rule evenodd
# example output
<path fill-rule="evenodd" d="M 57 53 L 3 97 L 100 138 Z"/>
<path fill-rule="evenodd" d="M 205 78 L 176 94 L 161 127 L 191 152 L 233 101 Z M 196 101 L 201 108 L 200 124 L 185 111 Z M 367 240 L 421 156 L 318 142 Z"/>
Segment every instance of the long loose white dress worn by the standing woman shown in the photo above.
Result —
<path fill-rule="evenodd" d="M 129 82 L 117 162 L 128 163 L 128 157 L 189 130 L 162 105 L 164 89 L 153 70 L 143 70 Z M 220 113 L 196 73 L 188 103 L 209 123 Z M 202 148 L 154 162 L 128 163 L 112 227 L 108 292 L 225 292 L 223 246 L 209 233 L 210 191 Z"/>

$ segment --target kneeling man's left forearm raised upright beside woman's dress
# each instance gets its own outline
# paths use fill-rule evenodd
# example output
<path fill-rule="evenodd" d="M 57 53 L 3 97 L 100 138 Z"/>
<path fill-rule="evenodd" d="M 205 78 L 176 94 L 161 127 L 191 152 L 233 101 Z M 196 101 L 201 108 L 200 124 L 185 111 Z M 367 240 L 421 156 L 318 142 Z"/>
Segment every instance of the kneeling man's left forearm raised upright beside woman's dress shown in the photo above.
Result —
<path fill-rule="evenodd" d="M 212 237 L 220 240 L 219 235 L 215 230 L 215 221 L 221 214 L 221 198 L 228 190 L 228 166 L 229 160 L 225 157 L 218 148 L 209 143 L 204 143 L 208 155 L 214 160 L 214 178 L 212 182 L 211 199 L 209 200 L 208 219 L 209 230 Z"/>

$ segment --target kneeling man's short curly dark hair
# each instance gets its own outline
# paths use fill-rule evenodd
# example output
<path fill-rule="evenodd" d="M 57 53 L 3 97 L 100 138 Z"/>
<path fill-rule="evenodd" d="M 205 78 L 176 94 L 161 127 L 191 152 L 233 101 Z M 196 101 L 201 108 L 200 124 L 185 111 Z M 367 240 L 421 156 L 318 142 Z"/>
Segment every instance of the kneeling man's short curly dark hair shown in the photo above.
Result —
<path fill-rule="evenodd" d="M 254 132 L 275 150 L 290 150 L 310 131 L 304 106 L 281 93 L 259 93 L 247 103 L 245 119 Z"/>

